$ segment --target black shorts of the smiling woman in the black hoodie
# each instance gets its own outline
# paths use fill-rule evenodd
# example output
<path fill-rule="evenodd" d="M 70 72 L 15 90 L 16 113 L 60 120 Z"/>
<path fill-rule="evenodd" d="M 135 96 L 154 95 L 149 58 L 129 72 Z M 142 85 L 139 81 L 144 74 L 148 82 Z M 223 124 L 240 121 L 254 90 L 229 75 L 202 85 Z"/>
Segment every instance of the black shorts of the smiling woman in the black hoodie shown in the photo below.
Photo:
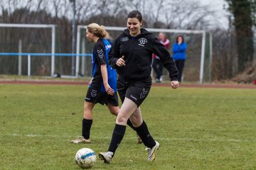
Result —
<path fill-rule="evenodd" d="M 127 83 L 122 79 L 117 80 L 117 91 L 122 103 L 124 98 L 129 98 L 137 104 L 138 108 L 148 96 L 151 88 L 151 79 L 145 82 Z"/>

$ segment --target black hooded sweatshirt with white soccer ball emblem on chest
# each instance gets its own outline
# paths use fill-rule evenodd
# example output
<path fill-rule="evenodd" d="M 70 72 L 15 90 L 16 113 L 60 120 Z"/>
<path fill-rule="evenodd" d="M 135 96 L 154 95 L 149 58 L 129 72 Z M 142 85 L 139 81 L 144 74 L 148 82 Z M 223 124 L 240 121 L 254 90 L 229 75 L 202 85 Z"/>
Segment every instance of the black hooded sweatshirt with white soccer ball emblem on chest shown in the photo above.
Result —
<path fill-rule="evenodd" d="M 156 38 L 153 33 L 141 28 L 137 37 L 129 35 L 125 29 L 113 42 L 109 53 L 109 63 L 117 69 L 121 79 L 125 81 L 143 81 L 151 75 L 152 54 L 159 56 L 164 67 L 169 71 L 171 81 L 176 81 L 178 70 L 166 47 Z M 118 67 L 117 60 L 124 56 L 125 66 Z"/>

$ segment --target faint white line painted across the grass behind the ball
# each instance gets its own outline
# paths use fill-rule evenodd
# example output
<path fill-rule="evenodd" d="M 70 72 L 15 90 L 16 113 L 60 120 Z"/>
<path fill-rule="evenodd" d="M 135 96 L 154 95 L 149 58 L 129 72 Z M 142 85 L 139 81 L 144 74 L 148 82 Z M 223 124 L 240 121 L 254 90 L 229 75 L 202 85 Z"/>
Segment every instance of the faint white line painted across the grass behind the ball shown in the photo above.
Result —
<path fill-rule="evenodd" d="M 0 137 L 56 137 L 56 138 L 73 138 L 74 136 L 68 135 L 36 135 L 36 134 L 0 134 Z M 94 139 L 111 139 L 109 137 L 97 137 L 94 136 Z M 132 140 L 136 137 L 124 137 L 126 139 Z M 165 140 L 165 141 L 186 141 L 186 142 L 256 142 L 256 140 L 235 140 L 235 139 L 221 139 L 221 138 L 208 138 L 208 139 L 196 139 L 196 138 L 171 138 L 171 137 L 156 137 L 156 140 Z"/>

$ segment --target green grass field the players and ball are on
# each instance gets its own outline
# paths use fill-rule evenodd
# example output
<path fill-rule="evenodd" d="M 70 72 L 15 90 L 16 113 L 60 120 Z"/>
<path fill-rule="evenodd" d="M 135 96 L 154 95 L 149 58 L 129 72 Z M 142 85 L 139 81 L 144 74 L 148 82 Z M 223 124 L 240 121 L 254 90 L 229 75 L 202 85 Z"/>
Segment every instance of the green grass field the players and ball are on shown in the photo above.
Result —
<path fill-rule="evenodd" d="M 95 107 L 90 145 L 81 134 L 86 86 L 0 84 L 0 169 L 80 169 L 78 149 L 105 151 L 114 116 Z M 143 145 L 127 128 L 112 164 L 92 169 L 256 169 L 256 91 L 172 90 L 152 87 L 142 104 L 151 135 L 161 147 L 148 163 Z"/>

